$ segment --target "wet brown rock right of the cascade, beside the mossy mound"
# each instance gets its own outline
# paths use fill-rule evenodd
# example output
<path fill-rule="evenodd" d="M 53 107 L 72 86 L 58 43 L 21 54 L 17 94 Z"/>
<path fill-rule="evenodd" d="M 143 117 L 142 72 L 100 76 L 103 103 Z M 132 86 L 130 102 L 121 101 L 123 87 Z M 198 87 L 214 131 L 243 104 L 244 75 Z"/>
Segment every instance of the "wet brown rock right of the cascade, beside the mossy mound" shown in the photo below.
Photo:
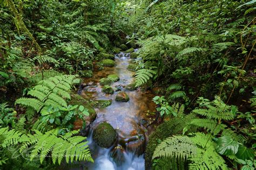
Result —
<path fill-rule="evenodd" d="M 145 151 L 146 140 L 144 134 L 130 137 L 126 140 L 126 149 L 136 155 L 142 155 Z"/>

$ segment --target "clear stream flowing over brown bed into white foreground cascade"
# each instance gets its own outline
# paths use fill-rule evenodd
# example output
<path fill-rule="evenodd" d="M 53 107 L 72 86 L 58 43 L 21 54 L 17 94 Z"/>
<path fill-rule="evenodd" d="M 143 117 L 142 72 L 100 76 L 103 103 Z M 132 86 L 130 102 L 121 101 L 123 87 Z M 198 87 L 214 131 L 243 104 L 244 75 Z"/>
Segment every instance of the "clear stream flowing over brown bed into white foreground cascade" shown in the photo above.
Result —
<path fill-rule="evenodd" d="M 127 66 L 132 61 L 129 54 L 121 52 L 115 55 L 115 67 L 105 67 L 103 70 L 96 71 L 92 78 L 86 79 L 86 83 L 94 83 L 84 88 L 82 96 L 90 96 L 93 100 L 112 100 L 109 107 L 96 109 L 97 118 L 91 124 L 87 137 L 92 157 L 95 160 L 94 164 L 86 164 L 89 169 L 144 169 L 144 150 L 151 129 L 146 129 L 140 122 L 150 121 L 147 112 L 153 111 L 155 105 L 151 101 L 153 95 L 150 91 L 125 89 L 127 84 L 134 82 L 134 72 L 127 70 Z M 118 92 L 112 95 L 102 93 L 99 80 L 110 74 L 117 74 L 120 77 L 120 80 L 111 86 L 125 91 L 130 97 L 128 102 L 115 101 Z M 101 148 L 92 139 L 93 129 L 101 122 L 110 123 L 117 131 L 117 144 L 111 148 Z M 110 156 L 113 150 L 118 150 L 114 159 L 120 161 L 114 161 Z"/>

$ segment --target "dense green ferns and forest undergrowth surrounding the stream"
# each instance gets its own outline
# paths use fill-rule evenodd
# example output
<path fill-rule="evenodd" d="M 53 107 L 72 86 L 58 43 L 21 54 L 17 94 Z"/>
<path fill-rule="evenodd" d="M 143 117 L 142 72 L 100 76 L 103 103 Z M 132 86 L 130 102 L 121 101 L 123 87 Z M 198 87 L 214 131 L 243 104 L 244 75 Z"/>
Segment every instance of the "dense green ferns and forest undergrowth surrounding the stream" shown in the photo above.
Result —
<path fill-rule="evenodd" d="M 93 161 L 73 124 L 95 111 L 72 89 L 129 47 L 136 86 L 157 94 L 146 169 L 256 167 L 255 1 L 2 0 L 0 12 L 1 168 Z"/>

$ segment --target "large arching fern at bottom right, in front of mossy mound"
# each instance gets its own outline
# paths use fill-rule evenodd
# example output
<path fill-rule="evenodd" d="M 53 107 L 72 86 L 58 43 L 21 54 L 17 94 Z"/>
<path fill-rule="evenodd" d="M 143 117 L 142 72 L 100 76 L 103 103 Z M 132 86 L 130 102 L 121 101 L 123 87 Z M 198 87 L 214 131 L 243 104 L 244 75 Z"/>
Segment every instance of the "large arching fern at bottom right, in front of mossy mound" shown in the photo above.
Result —
<path fill-rule="evenodd" d="M 190 169 L 227 169 L 225 160 L 215 151 L 209 135 L 195 133 L 192 137 L 174 136 L 160 143 L 153 154 L 157 157 L 170 159 L 182 158 L 190 160 Z M 175 161 L 172 161 L 172 163 Z"/>

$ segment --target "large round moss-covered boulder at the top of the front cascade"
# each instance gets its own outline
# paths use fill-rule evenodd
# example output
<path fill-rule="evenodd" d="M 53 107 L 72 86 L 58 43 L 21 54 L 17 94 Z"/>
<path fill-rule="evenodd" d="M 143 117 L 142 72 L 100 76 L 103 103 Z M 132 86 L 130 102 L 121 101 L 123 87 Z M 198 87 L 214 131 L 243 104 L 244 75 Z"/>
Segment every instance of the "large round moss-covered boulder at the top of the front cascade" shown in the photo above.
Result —
<path fill-rule="evenodd" d="M 109 123 L 100 123 L 92 134 L 97 145 L 104 148 L 111 147 L 117 141 L 117 132 Z"/>

